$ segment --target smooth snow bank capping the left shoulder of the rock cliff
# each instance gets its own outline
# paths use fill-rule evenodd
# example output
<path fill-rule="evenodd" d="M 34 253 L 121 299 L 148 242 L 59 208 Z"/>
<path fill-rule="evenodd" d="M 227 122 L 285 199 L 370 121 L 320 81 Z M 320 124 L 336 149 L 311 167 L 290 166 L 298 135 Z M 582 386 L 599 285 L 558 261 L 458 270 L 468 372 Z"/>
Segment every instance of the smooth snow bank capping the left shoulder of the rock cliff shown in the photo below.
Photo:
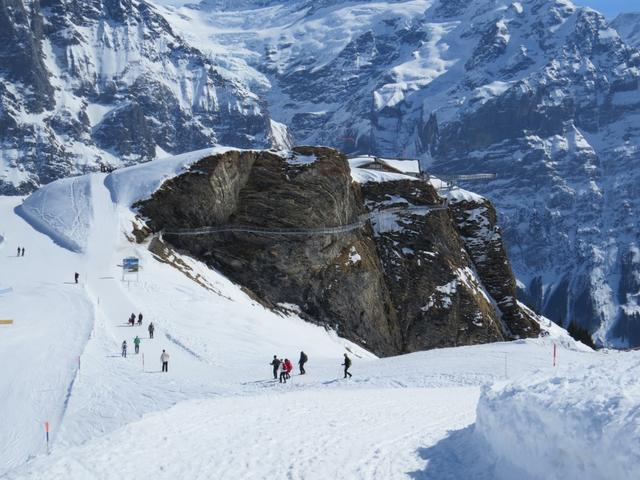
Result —
<path fill-rule="evenodd" d="M 215 146 L 118 169 L 107 176 L 105 185 L 111 192 L 114 203 L 130 206 L 139 200 L 149 198 L 165 180 L 184 172 L 198 160 L 229 150 L 239 149 Z"/>

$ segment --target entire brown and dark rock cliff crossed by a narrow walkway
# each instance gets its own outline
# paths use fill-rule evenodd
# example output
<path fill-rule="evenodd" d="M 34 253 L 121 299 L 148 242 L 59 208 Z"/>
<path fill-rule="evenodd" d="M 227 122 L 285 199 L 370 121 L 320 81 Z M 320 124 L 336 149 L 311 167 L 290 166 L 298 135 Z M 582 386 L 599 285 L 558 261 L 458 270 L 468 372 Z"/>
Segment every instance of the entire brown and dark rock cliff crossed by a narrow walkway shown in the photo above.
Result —
<path fill-rule="evenodd" d="M 266 304 L 297 305 L 306 319 L 380 355 L 537 335 L 537 322 L 506 299 L 515 280 L 500 237 L 486 243 L 497 268 L 485 262 L 476 270 L 482 242 L 471 252 L 461 232 L 471 238 L 474 227 L 460 227 L 446 210 L 394 209 L 362 228 L 317 233 L 357 223 L 367 212 L 440 202 L 424 182 L 360 186 L 337 151 L 298 147 L 288 156 L 231 151 L 205 158 L 136 207 L 155 232 L 221 225 L 316 232 L 167 233 L 164 239 Z M 471 216 L 475 208 L 456 211 Z"/>

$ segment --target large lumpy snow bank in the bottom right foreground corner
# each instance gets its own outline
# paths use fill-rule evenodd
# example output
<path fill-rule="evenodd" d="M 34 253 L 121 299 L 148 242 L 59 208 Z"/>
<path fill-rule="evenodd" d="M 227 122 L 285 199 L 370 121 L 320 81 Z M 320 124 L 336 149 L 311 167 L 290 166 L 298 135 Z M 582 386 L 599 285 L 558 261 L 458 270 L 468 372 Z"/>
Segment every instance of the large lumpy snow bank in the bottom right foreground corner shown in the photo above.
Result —
<path fill-rule="evenodd" d="M 542 381 L 485 387 L 476 434 L 507 477 L 636 479 L 639 367 L 637 354 L 617 354 Z"/>

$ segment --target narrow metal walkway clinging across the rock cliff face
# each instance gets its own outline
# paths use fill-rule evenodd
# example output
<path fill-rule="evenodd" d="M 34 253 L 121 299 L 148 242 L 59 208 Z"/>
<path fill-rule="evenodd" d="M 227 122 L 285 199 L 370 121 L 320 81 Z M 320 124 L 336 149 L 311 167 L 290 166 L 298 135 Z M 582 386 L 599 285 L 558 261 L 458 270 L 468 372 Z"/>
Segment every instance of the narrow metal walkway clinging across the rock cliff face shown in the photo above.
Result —
<path fill-rule="evenodd" d="M 335 227 L 319 227 L 319 228 L 262 228 L 251 225 L 222 225 L 215 227 L 202 227 L 195 229 L 179 229 L 179 230 L 162 230 L 162 235 L 169 236 L 198 236 L 213 235 L 217 233 L 253 233 L 258 235 L 282 235 L 282 236 L 313 236 L 313 235 L 337 235 L 341 233 L 349 233 L 354 230 L 364 228 L 367 222 L 395 214 L 409 215 L 426 215 L 430 212 L 447 210 L 447 203 L 439 205 L 424 205 L 411 207 L 396 207 L 375 212 L 365 213 L 358 217 L 353 223 L 347 225 L 339 225 Z"/>

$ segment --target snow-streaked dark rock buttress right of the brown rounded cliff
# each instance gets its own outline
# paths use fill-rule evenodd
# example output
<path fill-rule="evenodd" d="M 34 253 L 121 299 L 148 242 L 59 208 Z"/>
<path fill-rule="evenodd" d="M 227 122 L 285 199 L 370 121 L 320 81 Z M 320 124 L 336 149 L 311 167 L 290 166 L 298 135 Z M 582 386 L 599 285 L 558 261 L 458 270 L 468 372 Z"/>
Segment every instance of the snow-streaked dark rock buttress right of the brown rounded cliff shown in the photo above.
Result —
<path fill-rule="evenodd" d="M 370 183 L 362 190 L 371 210 L 441 201 L 422 182 Z M 509 338 L 448 211 L 383 215 L 372 223 L 404 351 Z"/>

